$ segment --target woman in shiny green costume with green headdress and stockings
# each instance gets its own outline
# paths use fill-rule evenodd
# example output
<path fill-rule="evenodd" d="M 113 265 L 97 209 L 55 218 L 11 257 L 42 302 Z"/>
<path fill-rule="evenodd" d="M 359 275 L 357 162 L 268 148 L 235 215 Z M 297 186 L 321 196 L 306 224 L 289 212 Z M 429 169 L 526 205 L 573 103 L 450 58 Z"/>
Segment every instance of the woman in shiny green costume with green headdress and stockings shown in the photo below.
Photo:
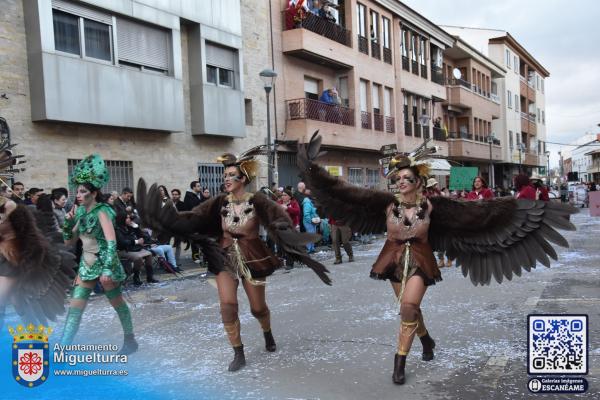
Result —
<path fill-rule="evenodd" d="M 121 293 L 125 271 L 117 255 L 115 212 L 102 201 L 100 192 L 100 188 L 108 180 L 106 165 L 97 154 L 90 155 L 77 164 L 70 177 L 71 186 L 77 188 L 78 206 L 74 206 L 65 218 L 63 239 L 66 244 L 74 244 L 77 239 L 81 239 L 83 254 L 75 287 L 71 292 L 71 306 L 61 343 L 68 345 L 73 341 L 90 294 L 100 281 L 123 328 L 124 341 L 119 353 L 131 354 L 137 350 L 138 344 L 133 334 L 131 313 Z"/>

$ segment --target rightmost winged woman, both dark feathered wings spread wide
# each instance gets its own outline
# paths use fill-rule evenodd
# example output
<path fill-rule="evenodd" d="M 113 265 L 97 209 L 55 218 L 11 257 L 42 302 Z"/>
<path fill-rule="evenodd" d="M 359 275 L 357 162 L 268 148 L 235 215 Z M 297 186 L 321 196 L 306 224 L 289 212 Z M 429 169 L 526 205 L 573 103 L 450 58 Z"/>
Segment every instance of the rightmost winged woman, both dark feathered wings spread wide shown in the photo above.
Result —
<path fill-rule="evenodd" d="M 427 288 L 442 280 L 434 251 L 456 259 L 474 285 L 488 285 L 492 277 L 501 283 L 520 276 L 537 261 L 549 267 L 548 257 L 556 260 L 557 255 L 548 241 L 568 247 L 555 228 L 575 230 L 569 216 L 577 210 L 562 204 L 508 197 L 474 202 L 425 198 L 427 159 L 435 152 L 426 144 L 390 161 L 386 177 L 396 185 L 396 193 L 359 188 L 329 175 L 315 162 L 320 146 L 317 131 L 309 143 L 299 145 L 297 159 L 302 180 L 325 213 L 343 219 L 354 232 L 387 230 L 370 276 L 389 279 L 400 302 L 392 376 L 396 384 L 405 382 L 406 356 L 415 334 L 423 346 L 422 359 L 434 357 L 435 342 L 420 309 Z"/>

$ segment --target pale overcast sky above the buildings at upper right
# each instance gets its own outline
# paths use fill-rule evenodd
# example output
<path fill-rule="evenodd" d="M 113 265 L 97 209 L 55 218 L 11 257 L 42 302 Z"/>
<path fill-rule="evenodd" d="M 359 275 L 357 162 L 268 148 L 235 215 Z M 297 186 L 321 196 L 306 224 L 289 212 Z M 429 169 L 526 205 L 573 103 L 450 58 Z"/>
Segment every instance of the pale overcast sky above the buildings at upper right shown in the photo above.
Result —
<path fill-rule="evenodd" d="M 600 2 L 402 1 L 436 24 L 502 29 L 521 43 L 550 72 L 549 142 L 570 143 L 586 132 L 600 133 Z M 558 162 L 560 147 L 549 147 L 551 166 Z"/>

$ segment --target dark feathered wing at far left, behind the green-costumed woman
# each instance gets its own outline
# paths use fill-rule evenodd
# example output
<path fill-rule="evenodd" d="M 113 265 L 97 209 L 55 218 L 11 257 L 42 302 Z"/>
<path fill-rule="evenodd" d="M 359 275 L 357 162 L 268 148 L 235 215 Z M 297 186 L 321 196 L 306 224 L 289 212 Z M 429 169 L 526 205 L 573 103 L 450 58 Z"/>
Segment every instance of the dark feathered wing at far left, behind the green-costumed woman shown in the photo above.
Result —
<path fill-rule="evenodd" d="M 44 217 L 49 215 L 41 216 L 42 220 Z M 51 225 L 49 221 L 42 228 Z M 17 206 L 7 222 L 15 231 L 19 247 L 13 306 L 27 323 L 54 321 L 65 311 L 67 289 L 75 277 L 75 255 L 55 232 L 42 232 L 25 206 Z"/>

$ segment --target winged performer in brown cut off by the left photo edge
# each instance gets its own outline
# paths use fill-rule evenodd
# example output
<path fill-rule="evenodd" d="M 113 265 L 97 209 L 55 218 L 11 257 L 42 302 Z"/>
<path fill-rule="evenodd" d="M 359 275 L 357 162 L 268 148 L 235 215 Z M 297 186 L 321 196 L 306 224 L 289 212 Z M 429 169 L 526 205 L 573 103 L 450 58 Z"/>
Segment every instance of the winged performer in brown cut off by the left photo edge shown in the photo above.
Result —
<path fill-rule="evenodd" d="M 20 172 L 6 141 L 0 142 L 0 176 Z M 54 224 L 54 225 L 53 225 Z M 62 243 L 54 214 L 31 211 L 0 196 L 0 330 L 11 304 L 25 324 L 47 324 L 65 310 L 75 256 Z"/>

